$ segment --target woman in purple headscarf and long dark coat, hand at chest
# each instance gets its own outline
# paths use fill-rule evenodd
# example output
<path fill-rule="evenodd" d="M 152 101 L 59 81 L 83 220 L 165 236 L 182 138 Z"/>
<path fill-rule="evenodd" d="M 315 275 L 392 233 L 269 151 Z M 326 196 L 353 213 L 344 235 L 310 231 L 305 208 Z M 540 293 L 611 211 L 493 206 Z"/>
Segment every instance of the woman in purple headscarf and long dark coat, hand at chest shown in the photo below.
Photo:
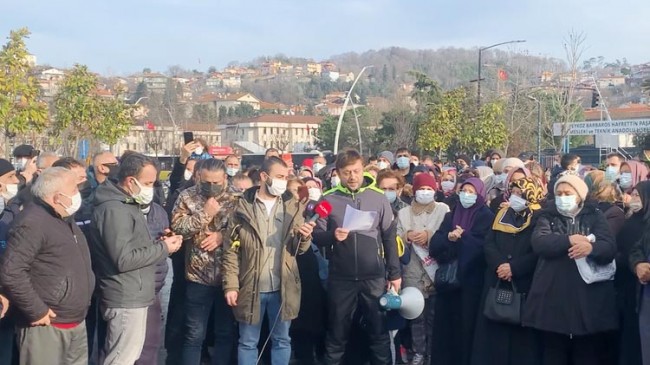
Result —
<path fill-rule="evenodd" d="M 469 364 L 485 273 L 483 245 L 493 220 L 483 182 L 472 177 L 461 184 L 458 203 L 431 239 L 429 255 L 438 262 L 438 270 L 457 265 L 459 282 L 447 287 L 434 282 L 432 365 Z"/>

